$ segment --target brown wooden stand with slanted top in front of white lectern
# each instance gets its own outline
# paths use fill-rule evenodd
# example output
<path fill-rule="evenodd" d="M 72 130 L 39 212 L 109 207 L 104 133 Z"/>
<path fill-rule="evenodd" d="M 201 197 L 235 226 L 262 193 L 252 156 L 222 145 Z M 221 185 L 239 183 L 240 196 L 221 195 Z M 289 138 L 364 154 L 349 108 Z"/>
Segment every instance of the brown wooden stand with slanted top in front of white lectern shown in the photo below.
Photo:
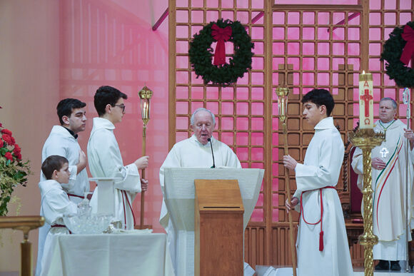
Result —
<path fill-rule="evenodd" d="M 243 275 L 243 201 L 238 180 L 194 180 L 194 275 Z"/>

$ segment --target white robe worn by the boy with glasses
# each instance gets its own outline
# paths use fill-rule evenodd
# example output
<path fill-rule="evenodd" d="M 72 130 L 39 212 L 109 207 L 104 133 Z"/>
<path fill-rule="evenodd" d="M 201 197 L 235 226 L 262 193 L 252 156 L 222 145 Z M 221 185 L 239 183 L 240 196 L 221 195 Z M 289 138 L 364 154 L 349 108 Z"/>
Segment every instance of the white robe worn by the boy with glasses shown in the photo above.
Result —
<path fill-rule="evenodd" d="M 121 178 L 115 181 L 115 220 L 124 229 L 132 230 L 134 218 L 132 203 L 141 192 L 141 178 L 134 163 L 123 165 L 121 151 L 113 135 L 115 126 L 105 118 L 94 118 L 94 126 L 88 142 L 89 170 L 94 178 Z M 91 199 L 92 211 L 98 207 L 99 186 Z"/>

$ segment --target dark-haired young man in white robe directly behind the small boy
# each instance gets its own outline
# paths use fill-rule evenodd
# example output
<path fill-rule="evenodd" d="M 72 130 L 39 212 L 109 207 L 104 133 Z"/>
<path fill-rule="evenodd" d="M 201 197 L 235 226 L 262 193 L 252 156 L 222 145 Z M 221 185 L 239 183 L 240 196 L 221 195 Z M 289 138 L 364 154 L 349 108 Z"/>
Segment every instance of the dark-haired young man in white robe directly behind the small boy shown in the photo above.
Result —
<path fill-rule="evenodd" d="M 86 192 L 89 191 L 88 173 L 86 173 L 86 155 L 78 143 L 78 133 L 86 128 L 86 103 L 75 98 L 66 98 L 58 103 L 56 107 L 61 126 L 54 126 L 44 143 L 41 151 L 42 162 L 50 155 L 61 155 L 69 160 L 71 178 L 69 183 L 62 185 L 69 200 L 79 203 Z M 46 180 L 43 173 L 40 174 L 40 181 Z M 42 210 L 40 215 L 44 215 Z M 41 270 L 41 257 L 44 250 L 44 241 L 49 232 L 49 223 L 39 229 L 39 247 L 37 253 L 36 275 Z"/>

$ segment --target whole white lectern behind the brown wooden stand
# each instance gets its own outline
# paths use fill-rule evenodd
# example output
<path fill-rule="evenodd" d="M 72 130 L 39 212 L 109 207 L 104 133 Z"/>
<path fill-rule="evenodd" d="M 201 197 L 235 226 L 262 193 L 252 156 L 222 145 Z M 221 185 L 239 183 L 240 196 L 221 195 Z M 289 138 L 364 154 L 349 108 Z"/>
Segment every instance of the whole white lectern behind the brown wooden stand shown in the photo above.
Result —
<path fill-rule="evenodd" d="M 223 183 L 228 183 L 229 180 L 236 180 L 236 183 L 238 183 L 238 186 L 240 187 L 240 189 L 238 189 L 238 196 L 243 200 L 243 204 L 238 206 L 244 208 L 244 213 L 241 213 L 241 216 L 243 216 L 243 228 L 241 230 L 244 232 L 258 200 L 263 174 L 264 170 L 257 168 L 164 168 L 163 195 L 170 220 L 166 230 L 168 239 L 171 241 L 171 260 L 173 260 L 177 276 L 193 276 L 196 270 L 194 263 L 194 248 L 196 242 L 194 215 L 197 210 L 194 204 L 196 200 L 195 180 L 216 180 L 223 181 Z M 211 187 L 208 187 L 208 190 L 211 190 Z M 206 191 L 206 195 L 208 195 L 207 193 L 213 192 Z M 224 192 L 221 191 L 220 193 Z M 227 200 L 228 197 L 226 197 L 226 201 L 221 200 L 221 203 L 227 204 Z M 218 203 L 217 200 L 215 202 Z M 233 227 L 235 227 L 235 225 L 233 225 Z M 207 231 L 209 230 L 204 232 Z M 214 234 L 214 236 L 217 235 Z M 209 246 L 221 247 L 222 245 L 217 244 L 215 240 L 211 240 Z M 240 246 L 240 249 L 234 247 L 230 249 L 238 251 L 243 255 L 243 240 L 240 243 Z M 241 260 L 241 265 L 243 265 L 243 257 Z M 224 262 L 216 262 L 213 267 L 217 270 L 221 265 L 226 264 Z M 219 274 L 214 272 L 209 275 Z M 243 273 L 229 273 L 227 275 L 238 276 L 243 275 Z"/>

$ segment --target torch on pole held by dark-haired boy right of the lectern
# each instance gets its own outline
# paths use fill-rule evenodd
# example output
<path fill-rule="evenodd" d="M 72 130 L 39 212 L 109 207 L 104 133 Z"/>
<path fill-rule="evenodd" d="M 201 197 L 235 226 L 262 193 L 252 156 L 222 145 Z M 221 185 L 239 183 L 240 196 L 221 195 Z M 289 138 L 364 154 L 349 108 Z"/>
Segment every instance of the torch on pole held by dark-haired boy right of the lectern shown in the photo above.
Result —
<path fill-rule="evenodd" d="M 283 126 L 283 145 L 284 155 L 288 155 L 288 129 L 286 128 L 286 118 L 288 117 L 288 93 L 289 88 L 278 87 L 276 88 L 276 95 L 278 96 L 278 111 L 279 121 L 282 122 Z M 286 192 L 289 203 L 291 204 L 291 185 L 289 183 L 289 170 L 285 167 L 285 183 Z M 296 276 L 296 246 L 295 239 L 293 237 L 295 229 L 293 228 L 292 212 L 288 213 L 289 218 L 289 240 L 291 241 L 291 254 L 292 254 L 292 268 L 293 276 Z"/>

